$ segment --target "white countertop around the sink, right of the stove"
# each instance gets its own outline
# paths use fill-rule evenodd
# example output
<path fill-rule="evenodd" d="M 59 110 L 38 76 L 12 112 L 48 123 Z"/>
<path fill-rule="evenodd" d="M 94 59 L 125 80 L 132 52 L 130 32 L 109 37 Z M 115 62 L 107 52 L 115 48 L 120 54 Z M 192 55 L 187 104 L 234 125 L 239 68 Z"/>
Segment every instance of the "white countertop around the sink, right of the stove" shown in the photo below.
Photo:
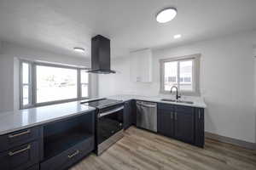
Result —
<path fill-rule="evenodd" d="M 192 97 L 192 96 L 182 96 L 181 100 L 192 101 L 193 104 L 184 104 L 184 103 L 177 103 L 177 102 L 169 102 L 169 101 L 162 101 L 161 99 L 174 99 L 173 96 L 141 96 L 141 95 L 129 95 L 129 94 L 122 94 L 122 95 L 114 95 L 109 96 L 108 99 L 119 99 L 123 101 L 127 101 L 130 99 L 138 99 L 144 101 L 151 101 L 157 103 L 166 103 L 172 105 L 185 105 L 191 107 L 200 107 L 200 108 L 207 108 L 207 105 L 204 102 L 204 99 L 201 97 Z"/>

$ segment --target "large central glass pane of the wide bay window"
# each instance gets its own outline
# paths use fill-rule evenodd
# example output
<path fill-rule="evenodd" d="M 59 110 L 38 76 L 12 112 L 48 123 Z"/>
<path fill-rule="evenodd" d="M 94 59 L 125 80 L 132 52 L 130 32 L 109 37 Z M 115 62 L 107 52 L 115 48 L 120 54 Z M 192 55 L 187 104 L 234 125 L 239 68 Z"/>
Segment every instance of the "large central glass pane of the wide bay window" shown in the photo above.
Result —
<path fill-rule="evenodd" d="M 77 98 L 77 70 L 37 65 L 37 103 Z"/>

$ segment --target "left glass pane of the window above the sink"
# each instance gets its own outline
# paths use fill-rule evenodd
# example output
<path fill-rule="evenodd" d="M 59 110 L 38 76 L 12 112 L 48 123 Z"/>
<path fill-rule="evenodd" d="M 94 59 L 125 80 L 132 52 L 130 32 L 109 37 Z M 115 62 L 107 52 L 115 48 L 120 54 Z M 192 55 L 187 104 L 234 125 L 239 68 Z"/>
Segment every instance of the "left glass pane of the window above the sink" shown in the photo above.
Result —
<path fill-rule="evenodd" d="M 177 86 L 177 61 L 166 62 L 164 65 L 165 65 L 164 86 L 166 91 L 170 91 L 172 86 Z"/>

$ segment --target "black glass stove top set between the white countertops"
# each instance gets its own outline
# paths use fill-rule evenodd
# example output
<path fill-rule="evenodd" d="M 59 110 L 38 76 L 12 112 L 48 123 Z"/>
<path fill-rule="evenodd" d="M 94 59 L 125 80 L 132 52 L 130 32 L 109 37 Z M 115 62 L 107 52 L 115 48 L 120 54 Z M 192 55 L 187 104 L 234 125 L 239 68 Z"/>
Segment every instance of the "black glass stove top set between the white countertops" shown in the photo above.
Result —
<path fill-rule="evenodd" d="M 121 104 L 123 101 L 116 99 L 89 99 L 82 101 L 82 105 L 89 105 L 91 107 L 96 107 L 98 109 L 106 108 L 108 106 Z"/>

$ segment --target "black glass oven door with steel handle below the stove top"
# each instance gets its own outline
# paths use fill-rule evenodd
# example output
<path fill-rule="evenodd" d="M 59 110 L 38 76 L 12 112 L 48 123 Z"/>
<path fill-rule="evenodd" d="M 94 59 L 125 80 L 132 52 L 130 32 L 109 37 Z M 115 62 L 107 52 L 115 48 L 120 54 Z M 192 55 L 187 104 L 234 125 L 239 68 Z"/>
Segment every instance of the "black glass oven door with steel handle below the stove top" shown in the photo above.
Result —
<path fill-rule="evenodd" d="M 97 144 L 102 144 L 113 134 L 123 130 L 123 112 L 124 105 L 99 111 L 97 119 Z"/>

